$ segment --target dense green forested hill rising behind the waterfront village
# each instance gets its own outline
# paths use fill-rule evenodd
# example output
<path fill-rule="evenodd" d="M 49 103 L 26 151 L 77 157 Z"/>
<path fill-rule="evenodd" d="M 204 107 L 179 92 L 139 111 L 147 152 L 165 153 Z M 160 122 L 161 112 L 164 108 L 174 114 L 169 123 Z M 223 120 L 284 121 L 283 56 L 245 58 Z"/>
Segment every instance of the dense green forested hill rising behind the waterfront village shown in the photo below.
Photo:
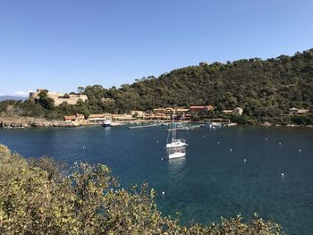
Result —
<path fill-rule="evenodd" d="M 205 104 L 218 109 L 242 106 L 249 115 L 286 113 L 292 106 L 312 109 L 313 49 L 268 60 L 190 66 L 110 88 L 105 96 L 123 111 Z"/>

